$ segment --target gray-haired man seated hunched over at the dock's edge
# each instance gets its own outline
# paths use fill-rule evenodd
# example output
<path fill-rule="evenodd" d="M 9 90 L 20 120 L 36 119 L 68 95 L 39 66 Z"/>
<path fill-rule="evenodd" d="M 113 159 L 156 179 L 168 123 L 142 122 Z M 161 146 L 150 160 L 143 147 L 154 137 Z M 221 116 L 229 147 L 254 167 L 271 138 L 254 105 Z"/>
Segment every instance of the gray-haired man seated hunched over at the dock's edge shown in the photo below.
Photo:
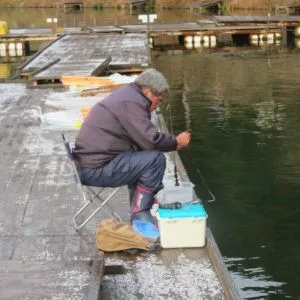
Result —
<path fill-rule="evenodd" d="M 159 132 L 151 122 L 168 92 L 165 77 L 155 69 L 141 73 L 133 83 L 113 91 L 97 103 L 78 133 L 75 154 L 82 183 L 129 189 L 131 221 L 156 224 L 150 213 L 155 194 L 162 189 L 166 168 L 163 152 L 186 147 L 190 133 Z"/>

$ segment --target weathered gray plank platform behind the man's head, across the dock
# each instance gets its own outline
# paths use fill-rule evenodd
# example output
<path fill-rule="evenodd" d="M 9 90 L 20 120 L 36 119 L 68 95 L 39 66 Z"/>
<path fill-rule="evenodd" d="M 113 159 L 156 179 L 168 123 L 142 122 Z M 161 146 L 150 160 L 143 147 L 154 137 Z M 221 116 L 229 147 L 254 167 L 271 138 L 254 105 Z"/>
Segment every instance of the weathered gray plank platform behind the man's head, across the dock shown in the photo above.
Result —
<path fill-rule="evenodd" d="M 57 79 L 63 75 L 99 75 L 101 65 L 147 65 L 145 34 L 69 34 L 40 51 L 20 73 L 28 74 L 49 61 L 60 59 L 58 63 L 37 73 L 35 79 Z M 105 65 L 105 66 L 104 66 Z"/>

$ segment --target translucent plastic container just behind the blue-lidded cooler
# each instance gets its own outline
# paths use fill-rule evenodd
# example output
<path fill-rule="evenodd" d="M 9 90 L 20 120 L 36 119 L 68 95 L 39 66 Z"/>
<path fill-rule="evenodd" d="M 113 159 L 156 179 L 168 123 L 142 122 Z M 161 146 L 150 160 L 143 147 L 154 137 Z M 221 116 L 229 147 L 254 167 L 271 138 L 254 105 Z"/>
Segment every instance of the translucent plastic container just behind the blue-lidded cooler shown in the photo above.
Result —
<path fill-rule="evenodd" d="M 194 184 L 186 181 L 179 186 L 165 187 L 164 195 L 161 199 L 162 204 L 180 202 L 186 204 L 194 200 Z"/>

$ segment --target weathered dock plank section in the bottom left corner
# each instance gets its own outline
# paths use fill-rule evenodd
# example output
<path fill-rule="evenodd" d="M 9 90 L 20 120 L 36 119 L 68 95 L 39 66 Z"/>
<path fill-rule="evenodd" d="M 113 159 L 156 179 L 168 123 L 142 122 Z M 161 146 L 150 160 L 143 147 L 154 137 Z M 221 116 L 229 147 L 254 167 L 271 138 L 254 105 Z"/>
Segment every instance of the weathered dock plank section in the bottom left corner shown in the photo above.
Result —
<path fill-rule="evenodd" d="M 85 299 L 91 266 L 84 261 L 2 261 L 1 298 Z M 50 296 L 51 295 L 51 296 Z"/>

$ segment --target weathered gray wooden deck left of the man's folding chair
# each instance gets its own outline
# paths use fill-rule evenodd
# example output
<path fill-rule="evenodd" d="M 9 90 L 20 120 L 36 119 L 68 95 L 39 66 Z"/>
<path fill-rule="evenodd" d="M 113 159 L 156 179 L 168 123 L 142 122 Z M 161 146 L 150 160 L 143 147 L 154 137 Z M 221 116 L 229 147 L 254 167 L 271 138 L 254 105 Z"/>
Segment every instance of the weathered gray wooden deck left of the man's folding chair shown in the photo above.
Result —
<path fill-rule="evenodd" d="M 59 134 L 40 128 L 51 92 L 0 84 L 1 299 L 98 299 L 103 257 L 93 230 L 74 231 L 82 200 Z"/>

